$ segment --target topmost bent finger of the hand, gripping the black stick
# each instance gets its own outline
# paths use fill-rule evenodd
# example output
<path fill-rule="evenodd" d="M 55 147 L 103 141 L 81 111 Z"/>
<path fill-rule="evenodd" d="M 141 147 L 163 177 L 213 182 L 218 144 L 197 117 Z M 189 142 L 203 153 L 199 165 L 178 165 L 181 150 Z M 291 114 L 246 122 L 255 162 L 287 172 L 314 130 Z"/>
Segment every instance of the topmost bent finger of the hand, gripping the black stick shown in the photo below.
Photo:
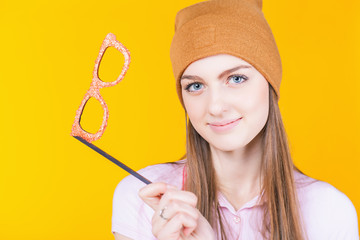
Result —
<path fill-rule="evenodd" d="M 160 202 L 162 194 L 166 192 L 167 184 L 162 182 L 150 183 L 141 188 L 138 192 L 139 197 L 148 204 L 152 209 L 156 210 Z"/>

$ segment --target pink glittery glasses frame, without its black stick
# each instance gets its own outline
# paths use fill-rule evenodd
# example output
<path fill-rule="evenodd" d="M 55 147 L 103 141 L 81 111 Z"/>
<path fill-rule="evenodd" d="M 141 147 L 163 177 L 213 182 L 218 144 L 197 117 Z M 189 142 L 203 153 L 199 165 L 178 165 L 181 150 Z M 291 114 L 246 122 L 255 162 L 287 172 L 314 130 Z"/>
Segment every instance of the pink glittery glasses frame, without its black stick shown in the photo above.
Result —
<path fill-rule="evenodd" d="M 99 65 L 100 65 L 101 59 L 104 55 L 104 52 L 108 47 L 115 47 L 125 57 L 124 66 L 122 67 L 120 76 L 113 82 L 104 82 L 99 78 Z M 112 86 L 115 86 L 116 84 L 118 84 L 124 78 L 124 75 L 129 68 L 129 63 L 130 63 L 129 51 L 124 47 L 124 45 L 122 45 L 119 41 L 116 40 L 116 36 L 114 34 L 108 33 L 101 45 L 99 55 L 95 61 L 95 67 L 94 67 L 94 71 L 93 71 L 93 79 L 92 79 L 90 88 L 86 92 L 85 97 L 80 104 L 80 107 L 76 111 L 75 121 L 73 123 L 72 131 L 71 131 L 72 136 L 79 136 L 88 142 L 95 141 L 102 136 L 102 134 L 104 133 L 105 128 L 107 126 L 107 120 L 109 118 L 109 110 L 107 108 L 107 105 L 106 105 L 104 99 L 101 97 L 99 90 L 104 87 L 112 87 Z M 81 115 L 84 111 L 84 107 L 85 107 L 87 101 L 91 97 L 94 97 L 96 100 L 98 100 L 104 110 L 102 124 L 100 126 L 100 129 L 95 134 L 85 131 L 80 126 Z"/>

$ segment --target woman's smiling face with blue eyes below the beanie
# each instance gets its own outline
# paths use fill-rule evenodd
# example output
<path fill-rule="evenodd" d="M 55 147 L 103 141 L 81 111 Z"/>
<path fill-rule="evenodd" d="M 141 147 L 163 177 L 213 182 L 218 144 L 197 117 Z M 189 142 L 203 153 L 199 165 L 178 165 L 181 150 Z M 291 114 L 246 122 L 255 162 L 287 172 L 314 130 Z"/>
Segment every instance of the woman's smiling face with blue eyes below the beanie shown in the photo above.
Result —
<path fill-rule="evenodd" d="M 202 58 L 186 68 L 180 81 L 189 119 L 212 147 L 243 148 L 265 126 L 269 85 L 246 61 L 227 54 Z"/>

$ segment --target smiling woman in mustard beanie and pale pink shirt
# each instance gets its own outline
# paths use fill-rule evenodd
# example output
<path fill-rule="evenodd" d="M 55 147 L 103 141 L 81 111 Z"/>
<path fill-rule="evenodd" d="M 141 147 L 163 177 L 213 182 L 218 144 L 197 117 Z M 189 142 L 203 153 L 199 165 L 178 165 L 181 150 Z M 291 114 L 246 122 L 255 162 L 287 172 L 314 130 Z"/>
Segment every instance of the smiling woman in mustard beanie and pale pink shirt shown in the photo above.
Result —
<path fill-rule="evenodd" d="M 120 239 L 359 239 L 342 192 L 291 159 L 278 49 L 261 0 L 212 0 L 176 16 L 170 57 L 187 121 L 182 160 L 117 186 Z"/>

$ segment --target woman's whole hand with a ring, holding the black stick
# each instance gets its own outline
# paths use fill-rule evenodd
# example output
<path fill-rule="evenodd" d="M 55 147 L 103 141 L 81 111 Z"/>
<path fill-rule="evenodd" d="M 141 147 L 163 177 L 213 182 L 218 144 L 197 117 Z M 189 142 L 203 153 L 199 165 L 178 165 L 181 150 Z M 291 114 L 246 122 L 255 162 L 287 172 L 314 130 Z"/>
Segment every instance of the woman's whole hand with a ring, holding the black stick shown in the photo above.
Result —
<path fill-rule="evenodd" d="M 192 192 L 159 182 L 140 189 L 139 196 L 155 211 L 152 218 L 152 233 L 157 239 L 215 239 L 209 222 L 196 208 L 197 197 Z M 165 219 L 160 216 L 162 210 Z"/>

